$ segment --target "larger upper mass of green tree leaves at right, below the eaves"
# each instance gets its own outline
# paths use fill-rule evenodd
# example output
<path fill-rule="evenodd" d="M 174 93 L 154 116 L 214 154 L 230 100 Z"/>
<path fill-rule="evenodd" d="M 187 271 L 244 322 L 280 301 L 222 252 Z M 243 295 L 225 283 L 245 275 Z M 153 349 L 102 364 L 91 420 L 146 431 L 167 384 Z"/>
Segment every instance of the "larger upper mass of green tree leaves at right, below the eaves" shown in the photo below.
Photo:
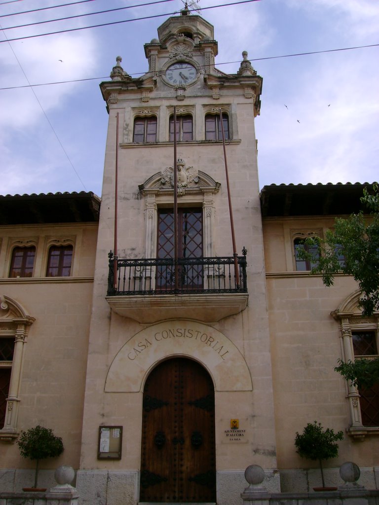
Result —
<path fill-rule="evenodd" d="M 366 222 L 362 212 L 350 217 L 336 218 L 333 231 L 326 232 L 325 240 L 319 237 L 307 238 L 308 248 L 318 247 L 318 264 L 311 274 L 321 274 L 325 286 L 334 284 L 338 273 L 352 275 L 362 292 L 359 306 L 363 316 L 371 316 L 379 310 L 379 192 L 373 185 L 373 194 L 363 190 L 361 201 L 370 210 Z M 312 260 L 314 253 L 299 250 L 301 259 Z M 341 255 L 344 262 L 341 262 Z"/>

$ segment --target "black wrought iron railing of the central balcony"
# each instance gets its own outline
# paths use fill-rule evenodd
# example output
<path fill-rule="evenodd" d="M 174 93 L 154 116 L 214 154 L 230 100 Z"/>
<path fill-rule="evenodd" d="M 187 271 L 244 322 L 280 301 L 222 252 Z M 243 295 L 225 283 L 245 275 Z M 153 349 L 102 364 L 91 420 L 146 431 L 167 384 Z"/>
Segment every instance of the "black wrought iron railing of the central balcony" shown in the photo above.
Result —
<path fill-rule="evenodd" d="M 234 258 L 171 258 L 122 260 L 109 253 L 108 296 L 181 293 L 246 293 L 246 254 L 237 258 L 240 283 L 236 283 Z M 114 269 L 117 265 L 116 279 Z M 177 281 L 175 277 L 177 276 Z M 115 282 L 116 281 L 116 282 Z"/>

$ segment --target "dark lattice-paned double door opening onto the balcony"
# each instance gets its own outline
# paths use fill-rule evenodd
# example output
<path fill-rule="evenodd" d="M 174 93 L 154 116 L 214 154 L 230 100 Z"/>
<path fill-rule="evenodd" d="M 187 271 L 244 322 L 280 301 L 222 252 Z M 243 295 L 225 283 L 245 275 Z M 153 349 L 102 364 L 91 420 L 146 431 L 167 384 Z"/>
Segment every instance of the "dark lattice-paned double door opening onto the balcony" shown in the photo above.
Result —
<path fill-rule="evenodd" d="M 179 289 L 202 289 L 203 266 L 185 260 L 203 257 L 203 212 L 201 209 L 178 209 Z M 157 258 L 174 258 L 174 213 L 161 210 L 158 214 Z M 175 287 L 175 269 L 170 265 L 157 269 L 157 288 Z"/>

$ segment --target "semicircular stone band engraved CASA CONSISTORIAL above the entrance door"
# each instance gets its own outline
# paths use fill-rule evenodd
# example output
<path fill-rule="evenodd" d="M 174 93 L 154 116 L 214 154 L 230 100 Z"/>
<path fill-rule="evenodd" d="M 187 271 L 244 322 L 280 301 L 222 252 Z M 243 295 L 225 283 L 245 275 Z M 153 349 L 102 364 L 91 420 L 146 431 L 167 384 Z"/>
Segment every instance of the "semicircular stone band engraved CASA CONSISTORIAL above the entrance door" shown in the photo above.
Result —
<path fill-rule="evenodd" d="M 240 350 L 223 333 L 195 321 L 165 321 L 136 333 L 115 356 L 106 392 L 143 391 L 149 371 L 168 357 L 186 357 L 208 370 L 215 391 L 251 391 L 251 375 Z"/>

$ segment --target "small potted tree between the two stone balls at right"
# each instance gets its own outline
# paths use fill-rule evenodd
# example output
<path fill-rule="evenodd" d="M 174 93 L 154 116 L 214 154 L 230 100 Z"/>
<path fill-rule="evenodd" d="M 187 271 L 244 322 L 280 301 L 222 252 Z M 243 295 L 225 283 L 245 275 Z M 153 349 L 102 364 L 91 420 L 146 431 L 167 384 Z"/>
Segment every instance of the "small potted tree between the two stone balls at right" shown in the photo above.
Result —
<path fill-rule="evenodd" d="M 300 435 L 296 432 L 295 446 L 297 453 L 302 458 L 318 461 L 321 470 L 322 488 L 314 487 L 314 491 L 334 491 L 337 487 L 325 487 L 324 473 L 322 469 L 323 460 L 336 458 L 338 456 L 338 440 L 343 440 L 343 431 L 334 432 L 331 428 L 322 428 L 321 423 L 314 421 L 308 423 Z"/>

